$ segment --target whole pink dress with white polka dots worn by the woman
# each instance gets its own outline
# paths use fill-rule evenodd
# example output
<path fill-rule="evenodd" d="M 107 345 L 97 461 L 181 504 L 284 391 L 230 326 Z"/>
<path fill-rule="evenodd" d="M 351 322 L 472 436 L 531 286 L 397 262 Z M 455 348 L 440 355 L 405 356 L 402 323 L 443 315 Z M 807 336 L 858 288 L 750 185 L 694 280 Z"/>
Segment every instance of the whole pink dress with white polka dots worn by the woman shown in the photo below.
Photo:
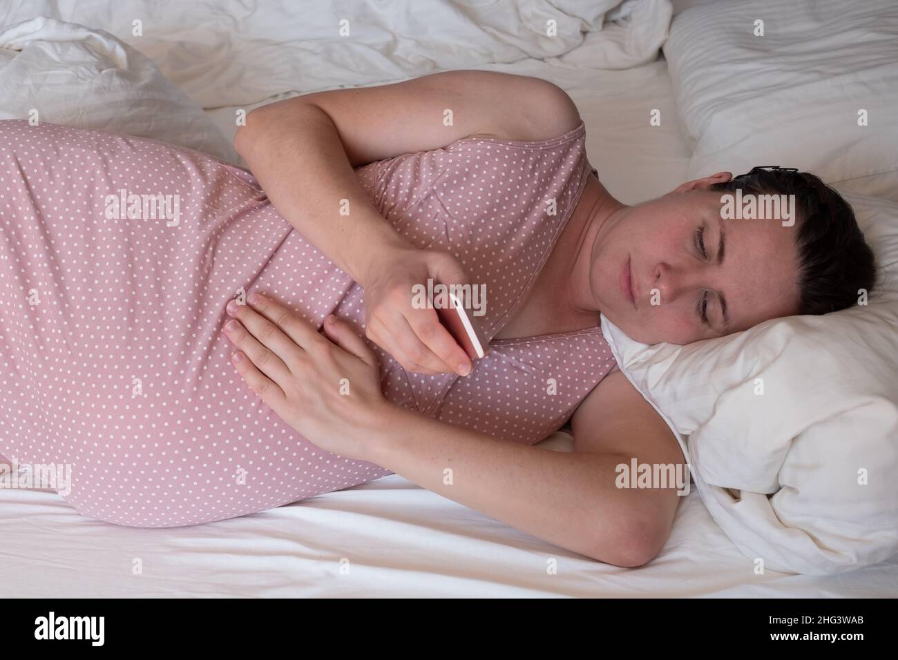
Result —
<path fill-rule="evenodd" d="M 364 292 L 249 172 L 154 140 L 0 121 L 0 454 L 71 466 L 82 515 L 169 527 L 247 515 L 391 474 L 329 453 L 243 382 L 225 304 L 260 290 L 364 334 Z M 523 304 L 592 170 L 585 126 L 466 138 L 357 168 L 412 244 L 485 283 L 492 338 Z M 598 323 L 598 319 L 596 319 Z M 370 342 L 369 342 L 370 343 Z M 384 395 L 509 441 L 561 427 L 614 368 L 598 325 L 489 343 L 466 378 L 380 358 Z"/>

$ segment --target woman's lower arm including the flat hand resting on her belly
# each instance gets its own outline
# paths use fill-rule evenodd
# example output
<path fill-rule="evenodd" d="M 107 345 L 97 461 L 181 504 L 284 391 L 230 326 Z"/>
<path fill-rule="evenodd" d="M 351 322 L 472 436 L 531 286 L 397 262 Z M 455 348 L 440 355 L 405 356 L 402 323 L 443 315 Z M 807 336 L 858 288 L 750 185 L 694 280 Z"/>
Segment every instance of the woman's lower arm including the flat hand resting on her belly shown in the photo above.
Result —
<path fill-rule="evenodd" d="M 235 365 L 314 444 L 594 559 L 640 566 L 664 547 L 677 486 L 618 488 L 617 468 L 632 458 L 682 463 L 682 453 L 620 372 L 577 409 L 575 452 L 553 452 L 393 406 L 381 395 L 374 356 L 348 324 L 329 317 L 323 337 L 273 301 L 250 302 L 255 309 L 232 308 L 242 325 L 228 337 L 249 358 Z"/>

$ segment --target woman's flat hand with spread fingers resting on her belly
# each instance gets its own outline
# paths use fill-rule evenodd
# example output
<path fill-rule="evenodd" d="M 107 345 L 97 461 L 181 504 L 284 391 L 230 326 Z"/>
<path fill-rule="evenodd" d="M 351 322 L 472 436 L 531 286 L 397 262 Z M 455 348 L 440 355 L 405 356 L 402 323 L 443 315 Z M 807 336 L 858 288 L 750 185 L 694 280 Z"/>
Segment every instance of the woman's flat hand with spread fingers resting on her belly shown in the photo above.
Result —
<path fill-rule="evenodd" d="M 372 429 L 395 407 L 383 398 L 365 340 L 329 316 L 322 336 L 294 312 L 254 294 L 233 301 L 225 334 L 233 365 L 277 416 L 329 452 L 367 460 Z M 233 326 L 231 324 L 234 324 Z"/>

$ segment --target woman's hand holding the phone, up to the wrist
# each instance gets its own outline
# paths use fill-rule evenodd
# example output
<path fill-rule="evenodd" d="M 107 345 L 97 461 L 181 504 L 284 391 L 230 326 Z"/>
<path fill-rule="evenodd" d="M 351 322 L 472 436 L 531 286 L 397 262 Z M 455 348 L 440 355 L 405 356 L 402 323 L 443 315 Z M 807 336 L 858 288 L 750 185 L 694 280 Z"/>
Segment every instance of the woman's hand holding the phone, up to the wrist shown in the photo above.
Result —
<path fill-rule="evenodd" d="M 464 267 L 449 252 L 396 249 L 372 259 L 365 288 L 365 334 L 416 374 L 471 372 L 471 358 L 445 329 L 432 307 L 422 306 L 416 287 L 466 284 Z"/>

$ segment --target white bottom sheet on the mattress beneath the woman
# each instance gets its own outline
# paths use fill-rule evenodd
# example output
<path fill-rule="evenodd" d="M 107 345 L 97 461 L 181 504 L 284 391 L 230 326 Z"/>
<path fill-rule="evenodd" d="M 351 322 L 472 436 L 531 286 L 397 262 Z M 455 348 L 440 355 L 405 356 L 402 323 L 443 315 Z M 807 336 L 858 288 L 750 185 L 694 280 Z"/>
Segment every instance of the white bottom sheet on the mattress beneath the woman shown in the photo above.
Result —
<path fill-rule="evenodd" d="M 567 89 L 587 125 L 590 161 L 622 201 L 656 197 L 684 179 L 689 152 L 663 60 L 623 71 L 535 60 L 483 68 Z M 661 126 L 649 125 L 653 109 Z M 228 136 L 233 110 L 207 110 Z M 547 444 L 569 448 L 569 436 Z M 54 493 L 0 489 L 0 539 L 0 596 L 871 597 L 894 595 L 898 582 L 898 558 L 840 576 L 756 575 L 753 559 L 727 539 L 696 491 L 683 498 L 661 555 L 625 569 L 561 550 L 398 475 L 163 530 L 91 521 Z"/>

